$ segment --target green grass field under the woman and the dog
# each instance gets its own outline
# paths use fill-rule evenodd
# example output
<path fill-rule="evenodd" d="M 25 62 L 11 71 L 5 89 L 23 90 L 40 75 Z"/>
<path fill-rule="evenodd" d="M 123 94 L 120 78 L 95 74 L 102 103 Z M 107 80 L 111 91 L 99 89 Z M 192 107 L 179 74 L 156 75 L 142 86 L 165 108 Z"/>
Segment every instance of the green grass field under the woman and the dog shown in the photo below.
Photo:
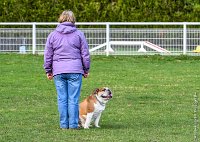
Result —
<path fill-rule="evenodd" d="M 107 86 L 113 99 L 101 128 L 59 129 L 56 92 L 43 56 L 0 54 L 1 142 L 192 142 L 200 57 L 92 56 L 81 100 Z M 198 112 L 195 108 L 198 107 Z M 197 109 L 196 109 L 197 110 Z M 199 138 L 200 140 L 200 138 Z"/>

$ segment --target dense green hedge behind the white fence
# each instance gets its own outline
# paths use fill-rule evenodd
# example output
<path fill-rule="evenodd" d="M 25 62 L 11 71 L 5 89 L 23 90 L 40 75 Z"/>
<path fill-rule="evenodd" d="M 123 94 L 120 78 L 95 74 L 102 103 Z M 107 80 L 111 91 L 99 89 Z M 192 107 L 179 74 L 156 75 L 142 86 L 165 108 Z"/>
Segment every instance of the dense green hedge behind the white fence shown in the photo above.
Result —
<path fill-rule="evenodd" d="M 0 22 L 199 22 L 199 0 L 0 0 Z"/>

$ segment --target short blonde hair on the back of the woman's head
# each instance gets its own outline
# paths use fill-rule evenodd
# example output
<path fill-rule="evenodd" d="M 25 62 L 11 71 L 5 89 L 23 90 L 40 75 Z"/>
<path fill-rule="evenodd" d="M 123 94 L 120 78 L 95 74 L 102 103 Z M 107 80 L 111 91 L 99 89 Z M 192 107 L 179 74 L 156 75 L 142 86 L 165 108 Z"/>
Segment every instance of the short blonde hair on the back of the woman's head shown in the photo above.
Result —
<path fill-rule="evenodd" d="M 74 13 L 71 10 L 65 10 L 60 14 L 60 17 L 58 18 L 58 22 L 59 23 L 63 23 L 63 22 L 71 22 L 71 23 L 75 23 L 75 16 Z"/>

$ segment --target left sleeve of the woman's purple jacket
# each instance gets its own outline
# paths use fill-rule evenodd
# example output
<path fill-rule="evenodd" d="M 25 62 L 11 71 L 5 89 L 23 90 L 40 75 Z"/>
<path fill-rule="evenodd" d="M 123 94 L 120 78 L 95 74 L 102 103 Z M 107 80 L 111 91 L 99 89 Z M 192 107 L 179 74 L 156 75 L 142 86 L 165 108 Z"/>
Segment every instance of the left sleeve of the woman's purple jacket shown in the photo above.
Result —
<path fill-rule="evenodd" d="M 52 73 L 53 63 L 53 46 L 52 46 L 52 34 L 47 37 L 45 50 L 44 50 L 44 69 L 46 73 Z"/>

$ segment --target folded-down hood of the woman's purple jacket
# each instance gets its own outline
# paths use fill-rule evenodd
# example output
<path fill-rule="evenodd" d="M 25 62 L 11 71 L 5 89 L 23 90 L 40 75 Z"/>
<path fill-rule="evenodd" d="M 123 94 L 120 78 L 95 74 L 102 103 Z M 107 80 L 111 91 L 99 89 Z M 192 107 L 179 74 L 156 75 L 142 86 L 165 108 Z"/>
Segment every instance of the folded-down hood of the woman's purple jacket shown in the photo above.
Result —
<path fill-rule="evenodd" d="M 63 22 L 56 27 L 56 31 L 63 34 L 73 33 L 76 30 L 76 26 L 71 22 Z"/>

